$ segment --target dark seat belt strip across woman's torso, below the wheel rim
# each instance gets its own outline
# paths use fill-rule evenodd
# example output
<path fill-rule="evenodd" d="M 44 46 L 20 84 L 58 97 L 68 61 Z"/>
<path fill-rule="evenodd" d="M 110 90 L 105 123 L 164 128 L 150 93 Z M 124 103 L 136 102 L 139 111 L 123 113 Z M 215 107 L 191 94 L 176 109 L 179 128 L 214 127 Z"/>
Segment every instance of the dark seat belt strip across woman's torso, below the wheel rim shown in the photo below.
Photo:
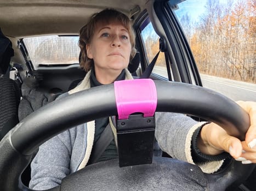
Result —
<path fill-rule="evenodd" d="M 90 154 L 90 159 L 88 161 L 88 164 L 96 163 L 99 160 L 99 158 L 101 157 L 101 154 L 103 154 L 107 146 L 110 145 L 110 142 L 113 140 L 113 138 L 114 138 L 113 132 L 109 123 L 101 133 L 98 141 L 95 142 L 92 153 Z"/>

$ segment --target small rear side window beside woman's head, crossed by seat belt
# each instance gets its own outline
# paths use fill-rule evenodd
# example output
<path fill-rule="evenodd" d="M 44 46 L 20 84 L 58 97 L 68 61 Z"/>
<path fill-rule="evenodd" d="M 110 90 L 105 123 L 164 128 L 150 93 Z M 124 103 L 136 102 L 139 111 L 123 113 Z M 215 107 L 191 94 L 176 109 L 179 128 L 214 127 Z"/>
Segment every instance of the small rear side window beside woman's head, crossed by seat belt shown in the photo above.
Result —
<path fill-rule="evenodd" d="M 159 51 L 160 37 L 156 34 L 155 30 L 153 29 L 152 23 L 150 22 L 149 18 L 147 18 L 144 21 L 143 25 L 141 25 L 140 31 L 141 39 L 143 40 L 144 43 L 147 61 L 150 64 L 152 59 L 156 56 L 157 52 Z M 168 79 L 166 60 L 164 58 L 163 52 L 160 52 L 152 73 L 155 73 Z"/>

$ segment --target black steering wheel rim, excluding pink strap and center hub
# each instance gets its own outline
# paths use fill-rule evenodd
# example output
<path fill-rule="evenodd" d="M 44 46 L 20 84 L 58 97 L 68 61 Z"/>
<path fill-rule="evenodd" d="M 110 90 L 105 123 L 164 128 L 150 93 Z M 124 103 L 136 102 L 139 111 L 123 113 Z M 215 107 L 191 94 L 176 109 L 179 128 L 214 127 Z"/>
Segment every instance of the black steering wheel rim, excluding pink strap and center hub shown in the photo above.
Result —
<path fill-rule="evenodd" d="M 155 86 L 156 111 L 202 117 L 224 127 L 229 134 L 241 140 L 244 139 L 249 127 L 249 116 L 232 100 L 211 89 L 187 83 L 155 81 Z M 0 152 L 3 153 L 0 159 L 0 169 L 3 169 L 0 174 L 0 187 L 3 190 L 24 189 L 25 186 L 20 182 L 20 175 L 39 145 L 68 128 L 109 115 L 117 115 L 113 84 L 77 92 L 33 112 L 0 142 Z M 230 166 L 231 170 L 234 170 L 234 166 Z M 249 166 L 243 169 L 252 170 L 253 168 Z M 210 188 L 216 188 L 214 180 L 220 175 L 206 175 Z"/>

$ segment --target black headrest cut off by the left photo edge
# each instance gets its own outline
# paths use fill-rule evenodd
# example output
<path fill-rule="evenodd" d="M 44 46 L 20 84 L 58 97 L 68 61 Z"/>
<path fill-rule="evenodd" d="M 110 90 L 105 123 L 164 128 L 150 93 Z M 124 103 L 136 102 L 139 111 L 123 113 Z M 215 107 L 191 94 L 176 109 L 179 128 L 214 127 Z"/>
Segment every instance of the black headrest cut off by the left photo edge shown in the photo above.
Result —
<path fill-rule="evenodd" d="M 5 37 L 0 28 L 0 74 L 6 73 L 13 55 L 12 42 Z"/>

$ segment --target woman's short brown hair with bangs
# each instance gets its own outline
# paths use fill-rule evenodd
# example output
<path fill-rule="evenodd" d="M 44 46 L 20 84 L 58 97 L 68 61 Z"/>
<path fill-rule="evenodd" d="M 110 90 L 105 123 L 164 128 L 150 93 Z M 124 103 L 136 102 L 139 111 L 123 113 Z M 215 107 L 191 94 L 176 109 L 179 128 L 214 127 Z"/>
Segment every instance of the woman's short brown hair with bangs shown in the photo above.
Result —
<path fill-rule="evenodd" d="M 80 66 L 89 71 L 93 65 L 93 59 L 87 57 L 86 44 L 90 44 L 90 41 L 93 38 L 96 25 L 98 23 L 110 23 L 110 22 L 120 22 L 129 33 L 130 44 L 132 45 L 132 51 L 130 52 L 130 59 L 135 56 L 135 33 L 133 31 L 132 23 L 129 20 L 129 17 L 120 11 L 115 9 L 104 9 L 99 13 L 95 13 L 90 17 L 89 22 L 84 25 L 79 32 L 79 47 L 81 49 L 81 59 Z"/>

